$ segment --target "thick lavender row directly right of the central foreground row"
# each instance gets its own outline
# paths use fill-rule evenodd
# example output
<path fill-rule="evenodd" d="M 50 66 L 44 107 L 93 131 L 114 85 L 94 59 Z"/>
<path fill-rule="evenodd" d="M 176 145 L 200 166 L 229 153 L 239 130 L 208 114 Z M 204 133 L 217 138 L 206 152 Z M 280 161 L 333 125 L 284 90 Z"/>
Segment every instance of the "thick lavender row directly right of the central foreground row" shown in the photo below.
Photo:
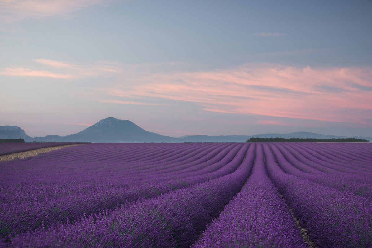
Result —
<path fill-rule="evenodd" d="M 293 209 L 317 247 L 371 247 L 372 202 L 304 178 L 284 173 L 267 144 L 263 145 L 270 179 Z M 278 164 L 277 164 L 278 162 Z"/>

